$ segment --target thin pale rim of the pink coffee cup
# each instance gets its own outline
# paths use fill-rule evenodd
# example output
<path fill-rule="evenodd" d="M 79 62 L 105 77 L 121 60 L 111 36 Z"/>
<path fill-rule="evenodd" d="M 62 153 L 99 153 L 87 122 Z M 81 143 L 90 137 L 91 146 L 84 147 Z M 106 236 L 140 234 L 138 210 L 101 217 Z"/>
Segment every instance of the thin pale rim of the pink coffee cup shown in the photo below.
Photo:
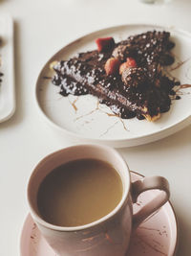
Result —
<path fill-rule="evenodd" d="M 124 187 L 124 191 L 123 191 L 123 195 L 122 198 L 120 199 L 120 201 L 118 202 L 117 206 L 107 215 L 103 216 L 102 218 L 84 224 L 84 225 L 79 225 L 79 226 L 59 226 L 59 225 L 54 225 L 48 221 L 44 221 L 37 213 L 36 211 L 33 209 L 32 207 L 32 199 L 31 199 L 31 195 L 30 195 L 30 184 L 32 182 L 32 176 L 35 175 L 36 172 L 38 172 L 38 167 L 39 165 L 41 165 L 44 161 L 47 161 L 48 158 L 53 157 L 53 154 L 57 154 L 60 153 L 62 151 L 66 151 L 67 149 L 72 149 L 72 148 L 81 148 L 81 147 L 91 147 L 91 148 L 97 148 L 97 149 L 102 149 L 105 151 L 110 151 L 113 155 L 116 155 L 117 158 L 121 161 L 121 163 L 123 164 L 123 166 L 126 169 L 126 174 L 128 175 L 128 182 L 126 187 Z M 121 175 L 120 175 L 121 177 Z M 121 177 L 122 178 L 122 177 Z M 123 207 L 126 198 L 129 198 L 129 193 L 130 193 L 130 186 L 131 186 L 131 177 L 130 177 L 130 169 L 126 163 L 126 161 L 124 160 L 123 156 L 118 153 L 115 149 L 109 147 L 109 146 L 103 146 L 103 145 L 96 145 L 96 144 L 80 144 L 80 145 L 76 145 L 76 146 L 71 146 L 71 147 L 66 147 L 64 149 L 61 149 L 59 151 L 53 151 L 52 153 L 48 154 L 47 156 L 45 156 L 42 160 L 40 160 L 38 162 L 38 164 L 35 166 L 35 168 L 32 171 L 32 175 L 29 178 L 29 182 L 28 182 L 28 188 L 27 188 L 27 195 L 28 195 L 28 203 L 30 206 L 30 210 L 31 210 L 31 214 L 32 214 L 32 218 L 38 223 L 43 225 L 44 227 L 47 227 L 49 229 L 52 229 L 54 231 L 60 231 L 60 232 L 74 232 L 74 231 L 79 231 L 79 230 L 84 230 L 84 229 L 88 229 L 91 227 L 95 227 L 96 225 L 99 225 L 102 222 L 105 221 L 109 221 L 112 218 L 115 217 L 115 215 L 117 214 L 117 212 L 119 212 L 119 210 Z"/>

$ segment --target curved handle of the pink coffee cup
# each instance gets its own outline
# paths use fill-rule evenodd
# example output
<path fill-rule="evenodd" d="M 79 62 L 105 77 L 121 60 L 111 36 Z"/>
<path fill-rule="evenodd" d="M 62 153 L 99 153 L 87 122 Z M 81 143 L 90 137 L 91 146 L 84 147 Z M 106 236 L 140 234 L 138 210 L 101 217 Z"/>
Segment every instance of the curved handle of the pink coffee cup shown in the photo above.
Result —
<path fill-rule="evenodd" d="M 160 190 L 159 196 L 144 205 L 138 213 L 133 215 L 134 228 L 156 212 L 170 197 L 169 183 L 162 176 L 143 177 L 132 183 L 131 194 L 133 202 L 137 202 L 138 196 L 147 190 Z"/>

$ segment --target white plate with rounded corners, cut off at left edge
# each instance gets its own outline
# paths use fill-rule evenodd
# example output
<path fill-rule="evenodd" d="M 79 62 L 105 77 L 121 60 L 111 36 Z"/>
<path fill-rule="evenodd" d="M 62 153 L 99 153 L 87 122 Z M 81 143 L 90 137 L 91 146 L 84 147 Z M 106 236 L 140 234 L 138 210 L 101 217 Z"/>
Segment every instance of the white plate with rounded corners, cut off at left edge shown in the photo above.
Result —
<path fill-rule="evenodd" d="M 14 68 L 13 68 L 13 23 L 9 15 L 0 15 L 0 72 L 4 74 L 0 85 L 0 122 L 11 118 L 15 110 Z"/>

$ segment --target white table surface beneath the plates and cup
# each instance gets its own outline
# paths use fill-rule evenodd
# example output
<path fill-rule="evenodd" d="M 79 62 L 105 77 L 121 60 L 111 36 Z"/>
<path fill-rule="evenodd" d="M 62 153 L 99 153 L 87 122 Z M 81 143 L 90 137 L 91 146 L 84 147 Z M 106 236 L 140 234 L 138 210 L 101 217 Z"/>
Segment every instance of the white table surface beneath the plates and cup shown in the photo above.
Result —
<path fill-rule="evenodd" d="M 16 112 L 0 124 L 0 255 L 20 255 L 33 167 L 48 153 L 69 145 L 44 123 L 34 104 L 35 81 L 43 64 L 77 36 L 109 26 L 151 23 L 191 31 L 190 12 L 189 0 L 165 5 L 138 0 L 0 0 L 0 15 L 10 13 L 15 22 L 16 81 Z M 169 180 L 180 223 L 178 255 L 191 255 L 191 126 L 159 142 L 118 151 L 132 170 Z"/>

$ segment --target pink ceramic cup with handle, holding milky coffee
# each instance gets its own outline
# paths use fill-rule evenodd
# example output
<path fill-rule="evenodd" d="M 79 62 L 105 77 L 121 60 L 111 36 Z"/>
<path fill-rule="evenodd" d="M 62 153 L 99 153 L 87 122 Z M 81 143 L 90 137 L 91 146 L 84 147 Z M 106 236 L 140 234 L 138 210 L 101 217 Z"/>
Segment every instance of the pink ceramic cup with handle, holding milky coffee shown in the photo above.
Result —
<path fill-rule="evenodd" d="M 37 208 L 39 185 L 56 167 L 84 158 L 106 161 L 115 167 L 123 185 L 123 195 L 117 207 L 98 221 L 82 226 L 64 227 L 44 221 Z M 138 195 L 152 189 L 161 191 L 158 198 L 134 214 L 133 203 L 136 202 Z M 80 145 L 53 152 L 36 166 L 28 186 L 32 219 L 54 252 L 60 256 L 124 256 L 132 230 L 158 210 L 168 198 L 169 186 L 164 177 L 144 177 L 132 183 L 130 170 L 120 154 L 112 148 L 97 145 Z"/>

